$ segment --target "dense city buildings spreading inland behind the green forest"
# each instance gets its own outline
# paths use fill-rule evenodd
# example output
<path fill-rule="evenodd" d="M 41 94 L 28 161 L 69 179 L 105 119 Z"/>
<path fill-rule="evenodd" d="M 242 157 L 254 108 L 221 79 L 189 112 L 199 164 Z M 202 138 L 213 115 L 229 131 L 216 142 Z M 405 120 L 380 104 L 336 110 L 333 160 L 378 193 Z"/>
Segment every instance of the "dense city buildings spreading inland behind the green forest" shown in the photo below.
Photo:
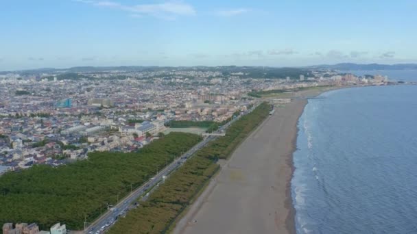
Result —
<path fill-rule="evenodd" d="M 170 120 L 223 122 L 253 104 L 247 95 L 253 90 L 388 82 L 331 70 L 257 69 L 0 75 L 0 174 L 34 164 L 59 166 L 92 151 L 134 151 L 163 133 Z"/>

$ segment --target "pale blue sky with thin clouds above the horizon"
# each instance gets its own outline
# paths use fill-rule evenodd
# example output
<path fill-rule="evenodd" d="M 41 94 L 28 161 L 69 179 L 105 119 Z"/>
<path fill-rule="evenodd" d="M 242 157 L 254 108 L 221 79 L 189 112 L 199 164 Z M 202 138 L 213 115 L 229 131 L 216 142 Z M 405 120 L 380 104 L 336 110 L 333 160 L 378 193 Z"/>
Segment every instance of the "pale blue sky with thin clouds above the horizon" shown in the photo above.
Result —
<path fill-rule="evenodd" d="M 415 0 L 0 0 L 0 70 L 416 63 Z"/>

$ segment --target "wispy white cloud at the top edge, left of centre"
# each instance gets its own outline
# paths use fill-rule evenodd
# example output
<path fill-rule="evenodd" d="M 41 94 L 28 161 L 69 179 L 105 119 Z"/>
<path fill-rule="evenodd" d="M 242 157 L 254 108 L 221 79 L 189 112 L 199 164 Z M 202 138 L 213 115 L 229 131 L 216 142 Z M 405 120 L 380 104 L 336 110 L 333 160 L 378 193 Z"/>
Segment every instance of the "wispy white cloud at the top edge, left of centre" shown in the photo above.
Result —
<path fill-rule="evenodd" d="M 126 12 L 131 12 L 131 17 L 154 16 L 173 20 L 176 16 L 194 16 L 196 14 L 192 5 L 180 1 L 167 1 L 156 4 L 139 4 L 123 5 L 115 1 L 90 1 L 90 0 L 73 0 L 80 3 L 86 3 L 97 7 L 115 8 Z"/>

